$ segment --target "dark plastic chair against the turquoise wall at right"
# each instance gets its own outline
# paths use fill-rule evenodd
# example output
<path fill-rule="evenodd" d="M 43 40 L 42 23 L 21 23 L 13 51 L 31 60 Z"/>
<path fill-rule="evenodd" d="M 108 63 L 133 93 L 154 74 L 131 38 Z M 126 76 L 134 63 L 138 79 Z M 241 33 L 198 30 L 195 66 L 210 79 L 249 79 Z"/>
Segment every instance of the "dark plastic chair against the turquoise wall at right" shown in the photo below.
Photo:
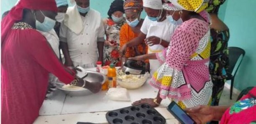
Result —
<path fill-rule="evenodd" d="M 233 92 L 233 84 L 234 79 L 236 76 L 236 72 L 243 60 L 245 55 L 245 51 L 239 47 L 228 47 L 228 58 L 229 58 L 229 67 L 227 70 L 227 80 L 231 80 L 231 87 L 230 87 L 230 99 L 232 99 L 232 92 Z"/>

